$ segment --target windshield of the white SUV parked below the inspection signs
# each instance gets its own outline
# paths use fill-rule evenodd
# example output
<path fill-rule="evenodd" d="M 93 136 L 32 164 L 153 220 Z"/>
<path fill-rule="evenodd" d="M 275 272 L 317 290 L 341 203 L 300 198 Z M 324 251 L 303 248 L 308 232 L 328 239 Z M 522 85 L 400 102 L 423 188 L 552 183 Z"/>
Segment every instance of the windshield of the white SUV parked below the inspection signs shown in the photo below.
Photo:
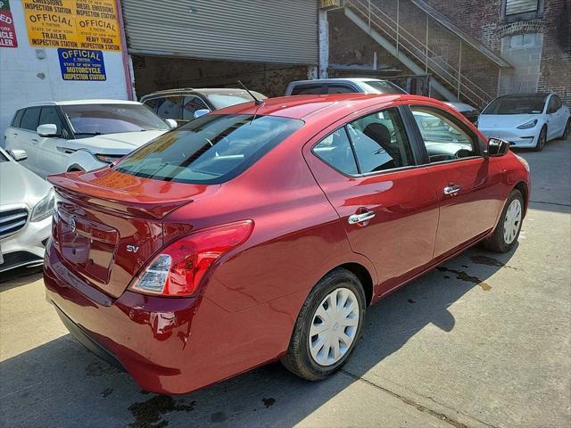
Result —
<path fill-rule="evenodd" d="M 143 104 L 82 104 L 63 105 L 75 136 L 99 136 L 121 132 L 170 129 Z"/>

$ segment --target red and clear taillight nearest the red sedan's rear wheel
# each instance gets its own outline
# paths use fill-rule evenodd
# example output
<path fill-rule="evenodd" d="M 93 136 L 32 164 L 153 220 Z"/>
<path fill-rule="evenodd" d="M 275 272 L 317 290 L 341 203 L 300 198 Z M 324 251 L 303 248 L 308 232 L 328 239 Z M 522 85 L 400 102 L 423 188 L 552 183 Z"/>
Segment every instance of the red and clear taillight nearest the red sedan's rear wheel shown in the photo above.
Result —
<path fill-rule="evenodd" d="M 189 296 L 212 263 L 243 244 L 252 234 L 253 221 L 211 227 L 170 243 L 129 286 L 133 292 L 167 297 Z"/>

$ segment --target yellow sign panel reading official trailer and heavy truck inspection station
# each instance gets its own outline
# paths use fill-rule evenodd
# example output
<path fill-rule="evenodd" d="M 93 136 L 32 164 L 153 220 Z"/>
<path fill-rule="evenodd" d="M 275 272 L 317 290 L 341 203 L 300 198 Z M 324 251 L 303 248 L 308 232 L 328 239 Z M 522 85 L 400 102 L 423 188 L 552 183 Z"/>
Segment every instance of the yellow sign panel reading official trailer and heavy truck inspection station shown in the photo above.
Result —
<path fill-rule="evenodd" d="M 114 0 L 23 0 L 29 44 L 120 51 Z"/>

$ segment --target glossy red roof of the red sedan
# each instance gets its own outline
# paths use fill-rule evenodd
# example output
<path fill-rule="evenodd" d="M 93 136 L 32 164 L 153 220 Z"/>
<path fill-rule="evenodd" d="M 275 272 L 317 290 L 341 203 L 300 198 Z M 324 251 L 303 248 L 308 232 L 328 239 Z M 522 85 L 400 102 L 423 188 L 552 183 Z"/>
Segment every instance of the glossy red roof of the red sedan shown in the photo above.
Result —
<path fill-rule="evenodd" d="M 438 103 L 445 109 L 451 107 L 434 98 L 409 94 L 328 94 L 328 95 L 293 95 L 268 98 L 261 105 L 253 102 L 236 104 L 211 114 L 255 114 L 282 116 L 292 119 L 306 119 L 310 115 L 323 114 L 329 119 L 343 118 L 353 111 L 381 103 L 410 101 L 418 103 Z"/>

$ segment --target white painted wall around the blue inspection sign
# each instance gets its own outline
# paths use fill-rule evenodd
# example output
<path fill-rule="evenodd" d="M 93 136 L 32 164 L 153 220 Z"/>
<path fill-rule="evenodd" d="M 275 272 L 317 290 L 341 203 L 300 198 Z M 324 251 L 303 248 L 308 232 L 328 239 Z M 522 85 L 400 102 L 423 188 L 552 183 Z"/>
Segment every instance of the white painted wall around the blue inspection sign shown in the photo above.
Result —
<path fill-rule="evenodd" d="M 46 100 L 81 98 L 127 99 L 121 53 L 103 52 L 107 80 L 102 82 L 62 79 L 55 48 L 29 45 L 20 1 L 10 2 L 18 47 L 0 47 L 0 134 L 22 105 Z M 43 58 L 43 59 L 40 59 Z M 4 138 L 0 138 L 4 144 Z"/>

